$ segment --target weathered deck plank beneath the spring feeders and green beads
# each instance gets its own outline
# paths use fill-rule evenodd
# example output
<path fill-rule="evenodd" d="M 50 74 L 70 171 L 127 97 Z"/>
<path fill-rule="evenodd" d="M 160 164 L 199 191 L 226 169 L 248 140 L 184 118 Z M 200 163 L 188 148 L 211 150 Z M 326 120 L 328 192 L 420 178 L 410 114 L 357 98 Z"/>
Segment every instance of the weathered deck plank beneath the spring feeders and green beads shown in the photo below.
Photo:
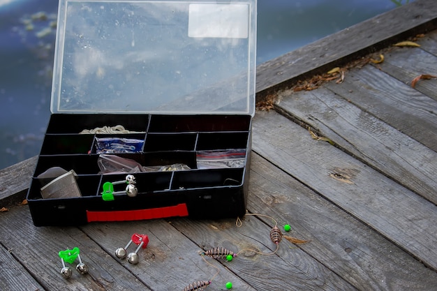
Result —
<path fill-rule="evenodd" d="M 233 273 L 242 276 L 255 290 L 355 290 L 352 285 L 292 246 L 286 239 L 281 241 L 274 255 L 244 251 L 250 249 L 272 254 L 275 250 L 275 245 L 269 238 L 273 225 L 265 225 L 256 218 L 246 216 L 241 227 L 235 225 L 235 220 L 192 223 L 178 220 L 173 224 L 177 230 L 205 250 L 225 247 L 235 253 L 242 251 L 232 262 L 221 263 Z M 205 259 L 212 261 L 211 258 Z"/>

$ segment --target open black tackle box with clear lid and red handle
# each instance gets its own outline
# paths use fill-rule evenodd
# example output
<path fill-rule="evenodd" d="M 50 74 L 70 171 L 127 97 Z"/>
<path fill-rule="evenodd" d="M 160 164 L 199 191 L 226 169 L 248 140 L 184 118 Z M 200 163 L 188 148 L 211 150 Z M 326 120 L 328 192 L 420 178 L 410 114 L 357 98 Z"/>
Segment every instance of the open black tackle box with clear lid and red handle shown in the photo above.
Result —
<path fill-rule="evenodd" d="M 60 0 L 58 13 L 34 225 L 243 216 L 256 0 Z"/>

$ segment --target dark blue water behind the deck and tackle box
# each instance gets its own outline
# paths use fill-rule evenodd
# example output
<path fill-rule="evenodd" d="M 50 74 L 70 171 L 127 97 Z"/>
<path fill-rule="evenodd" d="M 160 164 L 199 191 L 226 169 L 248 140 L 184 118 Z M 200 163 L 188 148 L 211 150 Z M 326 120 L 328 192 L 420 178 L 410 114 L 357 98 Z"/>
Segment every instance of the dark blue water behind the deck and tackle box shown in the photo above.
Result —
<path fill-rule="evenodd" d="M 406 2 L 258 0 L 257 62 Z M 50 117 L 56 17 L 54 0 L 0 0 L 0 169 L 40 151 Z"/>

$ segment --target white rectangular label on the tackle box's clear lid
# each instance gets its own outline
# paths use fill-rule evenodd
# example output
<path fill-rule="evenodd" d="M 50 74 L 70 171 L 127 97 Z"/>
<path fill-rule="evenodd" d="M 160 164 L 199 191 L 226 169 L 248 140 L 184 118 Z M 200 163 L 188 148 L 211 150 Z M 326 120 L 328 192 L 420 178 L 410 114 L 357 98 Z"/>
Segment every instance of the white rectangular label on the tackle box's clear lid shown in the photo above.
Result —
<path fill-rule="evenodd" d="M 191 38 L 248 38 L 246 4 L 190 4 L 188 36 Z"/>

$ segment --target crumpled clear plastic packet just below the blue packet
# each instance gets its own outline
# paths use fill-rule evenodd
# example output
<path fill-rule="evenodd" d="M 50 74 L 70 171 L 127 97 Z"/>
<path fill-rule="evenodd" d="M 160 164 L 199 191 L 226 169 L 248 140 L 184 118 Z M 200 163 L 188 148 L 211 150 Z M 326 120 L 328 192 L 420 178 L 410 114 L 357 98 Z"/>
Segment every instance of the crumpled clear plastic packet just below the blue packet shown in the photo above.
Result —
<path fill-rule="evenodd" d="M 101 174 L 138 173 L 144 172 L 142 165 L 130 158 L 101 154 L 97 159 Z"/>

